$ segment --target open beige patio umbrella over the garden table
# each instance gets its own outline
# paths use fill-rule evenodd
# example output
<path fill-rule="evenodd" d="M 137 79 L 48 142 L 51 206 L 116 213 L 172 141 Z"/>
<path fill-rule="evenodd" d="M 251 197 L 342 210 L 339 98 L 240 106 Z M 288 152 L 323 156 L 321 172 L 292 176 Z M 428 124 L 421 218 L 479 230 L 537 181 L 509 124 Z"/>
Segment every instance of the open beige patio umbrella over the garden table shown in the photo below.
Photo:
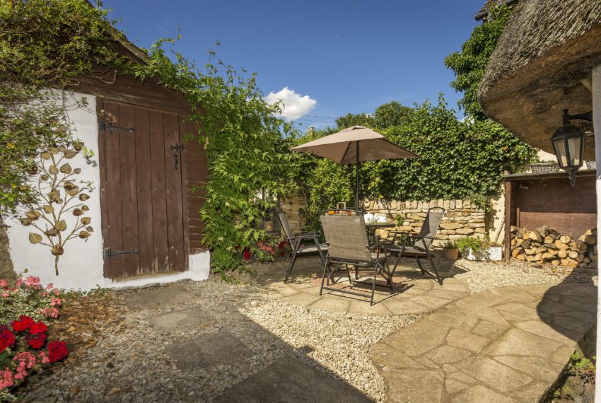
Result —
<path fill-rule="evenodd" d="M 357 209 L 359 208 L 361 162 L 392 158 L 419 158 L 416 153 L 397 146 L 382 134 L 363 126 L 349 127 L 338 133 L 293 147 L 291 150 L 328 158 L 339 164 L 355 163 L 357 171 L 355 206 Z"/>

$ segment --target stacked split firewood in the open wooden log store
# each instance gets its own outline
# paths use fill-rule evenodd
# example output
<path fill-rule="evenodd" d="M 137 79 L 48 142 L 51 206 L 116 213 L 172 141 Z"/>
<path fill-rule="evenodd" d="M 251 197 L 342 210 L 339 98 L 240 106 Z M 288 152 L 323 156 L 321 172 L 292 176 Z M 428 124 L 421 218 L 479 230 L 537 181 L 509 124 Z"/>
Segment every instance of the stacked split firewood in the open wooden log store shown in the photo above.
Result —
<path fill-rule="evenodd" d="M 527 230 L 512 226 L 511 257 L 553 266 L 596 267 L 597 228 L 575 239 L 571 233 L 559 233 L 550 227 Z"/>

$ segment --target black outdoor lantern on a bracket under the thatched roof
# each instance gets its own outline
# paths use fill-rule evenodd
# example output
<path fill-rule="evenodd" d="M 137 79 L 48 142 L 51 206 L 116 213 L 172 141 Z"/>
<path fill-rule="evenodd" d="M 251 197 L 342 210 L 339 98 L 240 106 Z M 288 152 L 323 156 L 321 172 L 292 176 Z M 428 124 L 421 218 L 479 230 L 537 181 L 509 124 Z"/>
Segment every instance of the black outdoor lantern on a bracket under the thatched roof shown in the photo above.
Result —
<path fill-rule="evenodd" d="M 580 115 L 569 115 L 564 109 L 564 123 L 559 127 L 551 138 L 555 150 L 559 168 L 570 174 L 570 183 L 576 185 L 576 171 L 582 166 L 584 158 L 585 133 L 578 129 L 571 119 L 582 119 L 593 121 L 592 112 Z"/>

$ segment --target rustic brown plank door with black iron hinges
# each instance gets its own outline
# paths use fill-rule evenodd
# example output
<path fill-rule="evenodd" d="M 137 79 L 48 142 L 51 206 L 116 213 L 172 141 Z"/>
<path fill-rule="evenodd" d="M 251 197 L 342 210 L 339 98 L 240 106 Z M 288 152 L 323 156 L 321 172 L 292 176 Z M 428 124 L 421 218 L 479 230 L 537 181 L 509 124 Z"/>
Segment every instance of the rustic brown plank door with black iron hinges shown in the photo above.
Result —
<path fill-rule="evenodd" d="M 105 276 L 187 269 L 176 113 L 98 100 Z"/>

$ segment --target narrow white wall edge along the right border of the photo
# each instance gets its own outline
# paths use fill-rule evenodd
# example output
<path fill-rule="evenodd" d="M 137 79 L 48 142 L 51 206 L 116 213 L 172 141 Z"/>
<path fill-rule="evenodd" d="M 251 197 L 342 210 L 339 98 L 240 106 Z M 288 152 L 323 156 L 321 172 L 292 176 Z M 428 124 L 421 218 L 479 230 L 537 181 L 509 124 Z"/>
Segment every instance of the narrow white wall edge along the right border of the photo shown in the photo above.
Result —
<path fill-rule="evenodd" d="M 595 160 L 601 167 L 601 65 L 593 69 L 593 130 L 595 132 Z M 597 228 L 601 228 L 601 176 L 597 170 Z M 601 351 L 601 293 L 598 292 L 599 266 L 597 260 L 597 357 Z M 597 379 L 601 375 L 597 365 Z M 595 385 L 595 402 L 601 403 L 601 386 Z"/>

